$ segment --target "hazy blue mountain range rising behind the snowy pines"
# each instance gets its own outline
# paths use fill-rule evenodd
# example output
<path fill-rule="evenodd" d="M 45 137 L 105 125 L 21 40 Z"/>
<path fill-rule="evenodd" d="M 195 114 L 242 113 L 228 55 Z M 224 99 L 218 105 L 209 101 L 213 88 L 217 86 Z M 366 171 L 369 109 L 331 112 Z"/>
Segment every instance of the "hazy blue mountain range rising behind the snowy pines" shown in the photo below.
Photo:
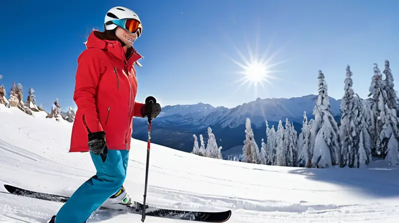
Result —
<path fill-rule="evenodd" d="M 313 109 L 317 103 L 317 95 L 307 95 L 290 99 L 272 98 L 256 99 L 235 108 L 213 107 L 209 104 L 165 106 L 152 123 L 151 141 L 191 152 L 194 145 L 193 134 L 202 134 L 205 145 L 207 128 L 212 129 L 218 146 L 222 146 L 223 156 L 242 153 L 245 140 L 245 119 L 251 120 L 254 137 L 259 148 L 261 140 L 266 140 L 266 121 L 269 127 L 274 125 L 277 130 L 279 120 L 285 125 L 288 118 L 295 130 L 301 132 L 303 112 L 306 111 L 308 120 L 314 118 Z M 340 103 L 329 97 L 331 112 L 337 121 L 340 120 Z M 133 133 L 135 139 L 147 141 L 148 124 L 145 118 L 133 119 Z M 200 142 L 199 142 L 200 143 Z"/>

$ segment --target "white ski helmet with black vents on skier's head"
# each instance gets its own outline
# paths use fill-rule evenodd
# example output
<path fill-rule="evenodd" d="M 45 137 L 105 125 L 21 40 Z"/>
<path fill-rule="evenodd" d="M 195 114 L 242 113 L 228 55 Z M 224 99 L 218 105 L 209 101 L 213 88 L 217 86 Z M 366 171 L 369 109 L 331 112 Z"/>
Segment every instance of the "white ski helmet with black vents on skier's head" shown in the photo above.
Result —
<path fill-rule="evenodd" d="M 104 19 L 104 29 L 112 30 L 117 27 L 111 20 L 133 18 L 137 19 L 140 23 L 140 18 L 135 11 L 123 6 L 116 6 L 108 10 Z M 142 32 L 142 31 L 140 31 Z"/>

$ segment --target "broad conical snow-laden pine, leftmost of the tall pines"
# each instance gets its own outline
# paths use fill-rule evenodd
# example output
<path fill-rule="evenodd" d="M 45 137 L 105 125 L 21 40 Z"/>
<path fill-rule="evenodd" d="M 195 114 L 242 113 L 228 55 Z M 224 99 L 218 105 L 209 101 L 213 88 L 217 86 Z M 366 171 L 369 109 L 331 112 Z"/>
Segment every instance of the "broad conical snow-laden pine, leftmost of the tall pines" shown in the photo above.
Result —
<path fill-rule="evenodd" d="M 338 125 L 331 114 L 328 88 L 322 71 L 319 70 L 319 97 L 313 110 L 315 115 L 312 139 L 312 166 L 318 168 L 337 165 L 341 149 Z"/>

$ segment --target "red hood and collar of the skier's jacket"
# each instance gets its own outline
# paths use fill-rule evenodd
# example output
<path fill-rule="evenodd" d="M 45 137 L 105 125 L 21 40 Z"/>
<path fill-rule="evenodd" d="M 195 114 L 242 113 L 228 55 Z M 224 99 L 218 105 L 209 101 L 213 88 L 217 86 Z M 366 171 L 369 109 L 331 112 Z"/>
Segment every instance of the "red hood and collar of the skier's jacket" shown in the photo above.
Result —
<path fill-rule="evenodd" d="M 89 37 L 87 38 L 87 41 L 84 43 L 86 45 L 86 48 L 98 48 L 104 51 L 109 51 L 112 53 L 115 57 L 124 60 L 126 64 L 130 65 L 131 63 L 137 62 L 143 56 L 141 56 L 133 47 L 132 47 L 132 53 L 126 59 L 125 53 L 122 47 L 122 44 L 119 42 L 119 40 L 105 40 L 105 39 L 100 39 L 95 35 L 95 32 L 98 32 L 97 30 L 94 30 L 90 33 Z M 137 62 L 138 63 L 138 62 Z"/>

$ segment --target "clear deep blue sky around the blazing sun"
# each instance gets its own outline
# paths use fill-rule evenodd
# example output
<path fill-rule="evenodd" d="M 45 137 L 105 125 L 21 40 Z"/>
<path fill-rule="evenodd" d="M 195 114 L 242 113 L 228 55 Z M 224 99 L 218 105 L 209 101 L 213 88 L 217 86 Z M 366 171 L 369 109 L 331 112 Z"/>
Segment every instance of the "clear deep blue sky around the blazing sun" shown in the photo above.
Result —
<path fill-rule="evenodd" d="M 246 2 L 246 3 L 244 3 Z M 398 1 L 366 0 L 40 0 L 4 1 L 0 7 L 0 74 L 7 94 L 12 81 L 32 87 L 38 103 L 50 110 L 74 106 L 77 57 L 93 28 L 103 29 L 106 11 L 117 5 L 135 10 L 143 35 L 135 48 L 145 58 L 137 69 L 137 101 L 153 95 L 162 106 L 209 103 L 235 107 L 256 98 L 317 94 L 318 70 L 329 95 L 343 96 L 345 68 L 351 65 L 354 90 L 368 95 L 373 63 L 384 70 L 398 61 Z M 269 44 L 277 80 L 255 94 L 234 83 L 242 76 L 230 58 L 243 62 Z M 228 55 L 225 56 L 225 55 Z"/>

